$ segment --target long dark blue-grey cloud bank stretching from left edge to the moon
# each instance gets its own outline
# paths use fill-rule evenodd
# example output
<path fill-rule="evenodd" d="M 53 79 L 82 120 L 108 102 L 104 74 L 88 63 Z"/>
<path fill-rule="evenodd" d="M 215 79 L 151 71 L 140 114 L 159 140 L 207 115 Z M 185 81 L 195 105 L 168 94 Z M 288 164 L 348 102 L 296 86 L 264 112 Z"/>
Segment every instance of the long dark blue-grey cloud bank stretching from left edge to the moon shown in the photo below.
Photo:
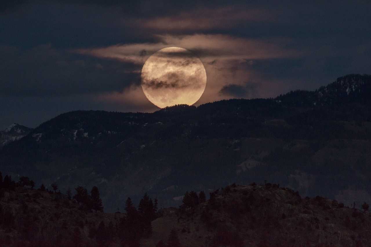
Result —
<path fill-rule="evenodd" d="M 139 67 L 53 49 L 0 47 L 0 96 L 60 96 L 122 91 L 140 83 Z"/>

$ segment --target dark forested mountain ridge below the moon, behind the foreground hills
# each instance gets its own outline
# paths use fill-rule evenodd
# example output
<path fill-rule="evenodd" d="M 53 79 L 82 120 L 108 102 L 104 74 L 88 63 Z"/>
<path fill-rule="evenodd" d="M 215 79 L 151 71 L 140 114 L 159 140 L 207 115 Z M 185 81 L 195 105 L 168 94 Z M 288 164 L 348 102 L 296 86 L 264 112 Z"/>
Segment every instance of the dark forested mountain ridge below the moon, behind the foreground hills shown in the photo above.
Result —
<path fill-rule="evenodd" d="M 0 170 L 98 186 L 111 212 L 145 192 L 167 207 L 186 190 L 264 180 L 359 207 L 371 201 L 370 89 L 371 76 L 351 74 L 275 99 L 68 112 L 4 146 Z"/>

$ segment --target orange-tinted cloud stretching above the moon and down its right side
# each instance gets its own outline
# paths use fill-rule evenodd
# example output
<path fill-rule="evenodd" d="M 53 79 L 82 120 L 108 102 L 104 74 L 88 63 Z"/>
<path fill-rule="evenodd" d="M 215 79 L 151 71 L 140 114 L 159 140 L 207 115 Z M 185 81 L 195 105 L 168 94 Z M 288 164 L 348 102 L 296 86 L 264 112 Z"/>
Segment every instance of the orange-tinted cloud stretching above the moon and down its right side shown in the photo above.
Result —
<path fill-rule="evenodd" d="M 229 89 L 230 84 L 247 90 L 250 85 L 246 83 L 251 80 L 259 83 L 259 79 L 256 78 L 259 75 L 252 69 L 256 61 L 296 58 L 303 54 L 301 51 L 290 49 L 288 39 L 245 39 L 222 34 L 157 35 L 157 38 L 160 41 L 153 44 L 117 44 L 94 49 L 78 49 L 73 52 L 142 66 L 151 54 L 162 48 L 175 46 L 190 50 L 200 57 L 207 73 L 206 89 L 196 104 L 239 96 L 220 93 L 223 92 L 223 88 Z M 274 91 L 259 92 L 254 88 L 253 94 L 251 90 L 249 92 L 244 97 L 274 96 Z"/>

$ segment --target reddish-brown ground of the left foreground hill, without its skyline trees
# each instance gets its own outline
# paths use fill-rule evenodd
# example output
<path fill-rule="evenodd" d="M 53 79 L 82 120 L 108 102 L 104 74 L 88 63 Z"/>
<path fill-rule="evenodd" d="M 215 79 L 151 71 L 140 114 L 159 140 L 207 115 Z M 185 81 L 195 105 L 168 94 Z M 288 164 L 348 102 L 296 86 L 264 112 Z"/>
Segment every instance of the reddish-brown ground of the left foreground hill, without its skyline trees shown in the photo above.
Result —
<path fill-rule="evenodd" d="M 0 246 L 97 246 L 96 230 L 101 222 L 108 230 L 118 226 L 123 217 L 79 208 L 76 201 L 61 193 L 26 187 L 2 189 Z"/>

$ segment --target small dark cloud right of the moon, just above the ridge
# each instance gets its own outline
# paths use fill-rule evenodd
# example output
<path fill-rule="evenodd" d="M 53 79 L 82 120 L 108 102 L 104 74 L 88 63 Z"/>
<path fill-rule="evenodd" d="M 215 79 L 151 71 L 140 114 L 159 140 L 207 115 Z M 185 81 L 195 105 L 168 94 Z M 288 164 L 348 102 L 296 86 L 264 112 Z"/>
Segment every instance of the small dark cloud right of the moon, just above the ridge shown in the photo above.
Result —
<path fill-rule="evenodd" d="M 257 84 L 246 83 L 245 85 L 229 84 L 223 86 L 219 94 L 222 96 L 233 97 L 233 98 L 256 98 L 257 94 Z"/>

